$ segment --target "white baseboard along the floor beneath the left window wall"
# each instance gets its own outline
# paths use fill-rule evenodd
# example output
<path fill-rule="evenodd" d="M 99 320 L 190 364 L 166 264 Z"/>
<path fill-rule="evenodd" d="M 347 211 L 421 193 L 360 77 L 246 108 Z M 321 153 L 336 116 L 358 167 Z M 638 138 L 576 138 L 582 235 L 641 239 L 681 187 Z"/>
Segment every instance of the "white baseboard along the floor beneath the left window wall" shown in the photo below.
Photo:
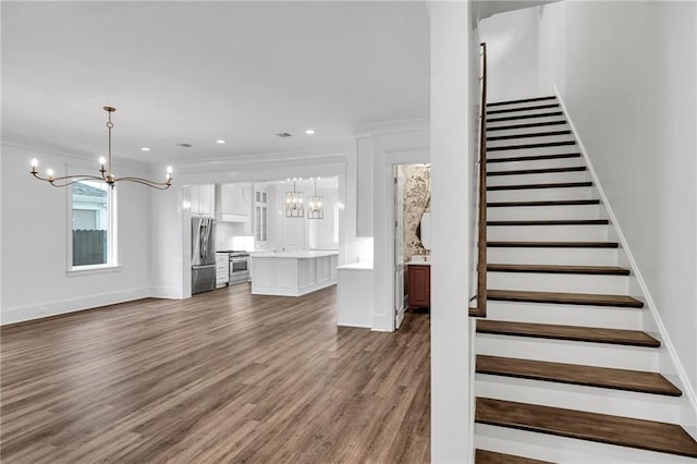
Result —
<path fill-rule="evenodd" d="M 75 313 L 99 306 L 147 298 L 148 296 L 150 296 L 150 289 L 143 286 L 110 293 L 100 293 L 98 295 L 81 296 L 77 298 L 52 301 L 40 305 L 20 306 L 3 309 L 2 313 L 0 313 L 0 325 L 23 322 L 26 320 Z"/>

